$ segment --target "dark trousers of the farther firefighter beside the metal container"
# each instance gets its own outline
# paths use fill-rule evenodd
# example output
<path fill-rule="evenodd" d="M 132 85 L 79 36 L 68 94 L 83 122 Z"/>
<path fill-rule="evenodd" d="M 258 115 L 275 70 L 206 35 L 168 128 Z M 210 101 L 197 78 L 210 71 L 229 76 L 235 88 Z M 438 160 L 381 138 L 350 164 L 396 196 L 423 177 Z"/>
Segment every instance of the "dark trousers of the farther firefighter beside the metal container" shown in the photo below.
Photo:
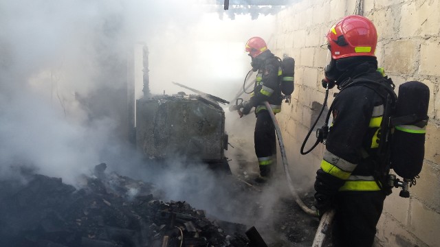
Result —
<path fill-rule="evenodd" d="M 276 157 L 276 135 L 272 118 L 267 110 L 256 113 L 256 124 L 254 131 L 255 154 L 259 160 L 260 175 L 271 176 Z"/>

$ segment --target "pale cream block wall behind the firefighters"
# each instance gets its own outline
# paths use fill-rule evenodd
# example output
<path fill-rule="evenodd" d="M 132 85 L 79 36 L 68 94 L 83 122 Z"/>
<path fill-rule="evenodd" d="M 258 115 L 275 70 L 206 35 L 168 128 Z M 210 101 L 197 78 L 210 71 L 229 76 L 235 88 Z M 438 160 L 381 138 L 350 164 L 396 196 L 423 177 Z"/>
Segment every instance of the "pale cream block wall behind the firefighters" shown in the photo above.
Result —
<path fill-rule="evenodd" d="M 320 85 L 329 27 L 355 13 L 354 0 L 296 1 L 277 15 L 270 49 L 296 60 L 296 89 L 292 104 L 283 104 L 277 115 L 287 149 L 292 178 L 300 187 L 311 187 L 322 158 L 322 144 L 303 156 L 300 147 L 320 110 L 325 91 Z M 410 198 L 399 189 L 386 198 L 377 226 L 375 246 L 440 246 L 440 3 L 439 0 L 365 0 L 363 14 L 375 23 L 379 34 L 377 59 L 397 88 L 419 80 L 430 88 L 430 117 L 426 134 L 425 162 L 410 188 Z M 333 101 L 332 89 L 329 104 Z M 313 117 L 312 117 L 313 115 Z M 322 116 L 325 117 L 325 116 Z M 315 132 L 305 150 L 315 141 Z"/>

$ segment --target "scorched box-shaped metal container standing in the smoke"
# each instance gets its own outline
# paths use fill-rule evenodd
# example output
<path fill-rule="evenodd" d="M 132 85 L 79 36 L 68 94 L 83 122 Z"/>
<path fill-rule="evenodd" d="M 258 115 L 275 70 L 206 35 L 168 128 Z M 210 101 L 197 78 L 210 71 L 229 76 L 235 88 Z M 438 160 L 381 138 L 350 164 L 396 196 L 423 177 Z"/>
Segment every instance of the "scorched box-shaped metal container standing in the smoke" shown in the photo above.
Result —
<path fill-rule="evenodd" d="M 155 95 L 136 101 L 136 145 L 147 158 L 225 163 L 225 113 L 199 95 Z"/>

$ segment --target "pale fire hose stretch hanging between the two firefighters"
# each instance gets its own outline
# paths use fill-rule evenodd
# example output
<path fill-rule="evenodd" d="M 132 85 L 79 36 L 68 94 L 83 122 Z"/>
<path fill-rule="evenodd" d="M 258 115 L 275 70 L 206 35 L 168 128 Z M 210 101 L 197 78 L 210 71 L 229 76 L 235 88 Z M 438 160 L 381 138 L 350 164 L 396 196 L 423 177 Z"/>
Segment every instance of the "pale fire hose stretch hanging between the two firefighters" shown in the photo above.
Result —
<path fill-rule="evenodd" d="M 296 193 L 296 189 L 292 183 L 292 178 L 290 178 L 290 174 L 289 174 L 287 156 L 286 156 L 286 152 L 285 152 L 285 148 L 284 148 L 283 137 L 281 137 L 280 126 L 278 126 L 278 121 L 276 121 L 276 117 L 274 115 L 274 112 L 272 111 L 272 107 L 270 106 L 270 104 L 266 101 L 264 102 L 264 104 L 266 106 L 267 111 L 270 114 L 270 117 L 272 118 L 272 121 L 274 122 L 275 131 L 276 131 L 276 138 L 278 139 L 278 143 L 280 145 L 280 152 L 281 152 L 281 157 L 283 158 L 284 172 L 286 174 L 287 185 L 289 186 L 289 190 L 292 193 L 292 196 L 294 196 L 296 204 L 298 204 L 298 206 L 300 206 L 300 208 L 303 209 L 303 211 L 305 211 L 305 213 L 312 215 L 312 216 L 318 216 L 318 213 L 316 213 L 316 211 L 314 211 L 312 209 L 309 209 L 309 207 L 307 207 L 304 204 L 303 200 L 300 199 L 300 197 L 298 196 L 298 193 Z"/>

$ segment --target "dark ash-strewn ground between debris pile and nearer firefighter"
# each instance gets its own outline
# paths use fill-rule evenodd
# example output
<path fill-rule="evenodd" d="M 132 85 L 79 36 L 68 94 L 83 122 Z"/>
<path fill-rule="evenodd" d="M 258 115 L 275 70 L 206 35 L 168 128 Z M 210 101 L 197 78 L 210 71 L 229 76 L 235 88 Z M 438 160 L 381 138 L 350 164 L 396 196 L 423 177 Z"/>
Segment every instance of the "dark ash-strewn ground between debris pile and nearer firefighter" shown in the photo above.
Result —
<path fill-rule="evenodd" d="M 279 169 L 279 168 L 278 168 Z M 317 217 L 308 215 L 296 204 L 294 197 L 287 190 L 287 182 L 283 172 L 278 172 L 275 180 L 267 184 L 255 183 L 253 181 L 255 173 L 251 169 L 243 171 L 241 174 L 234 174 L 234 178 L 249 184 L 248 187 L 254 187 L 252 193 L 254 198 L 266 198 L 267 194 L 273 196 L 270 203 L 263 202 L 259 204 L 256 199 L 258 209 L 255 209 L 254 215 L 263 214 L 267 218 L 256 220 L 254 225 L 261 231 L 261 235 L 268 246 L 311 246 L 313 243 L 316 228 L 319 220 Z M 243 174 L 245 174 L 243 176 Z M 311 207 L 314 203 L 314 197 L 311 189 L 296 191 L 301 200 Z M 264 200 L 264 199 L 263 199 Z M 263 223 L 264 222 L 264 223 Z"/>

